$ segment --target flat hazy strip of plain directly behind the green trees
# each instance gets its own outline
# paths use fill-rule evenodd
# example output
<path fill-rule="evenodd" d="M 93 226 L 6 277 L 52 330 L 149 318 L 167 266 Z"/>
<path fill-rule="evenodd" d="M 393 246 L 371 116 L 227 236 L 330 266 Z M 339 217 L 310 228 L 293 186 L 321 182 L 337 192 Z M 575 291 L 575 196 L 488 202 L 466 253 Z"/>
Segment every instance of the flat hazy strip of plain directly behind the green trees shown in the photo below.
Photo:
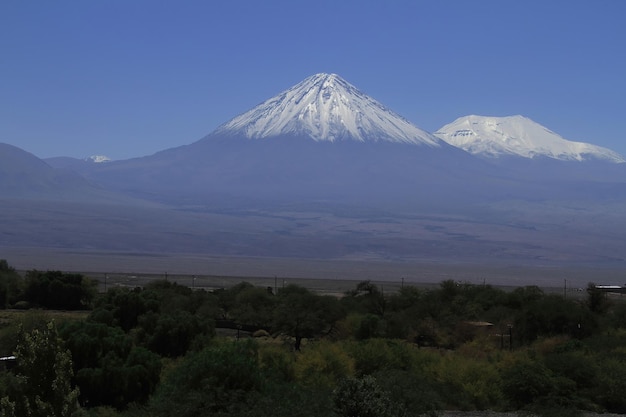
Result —
<path fill-rule="evenodd" d="M 269 257 L 225 257 L 203 254 L 124 253 L 49 248 L 0 247 L 19 271 L 58 270 L 83 273 L 105 286 L 141 286 L 168 279 L 190 287 L 214 289 L 248 281 L 278 287 L 295 283 L 326 293 L 343 293 L 370 280 L 385 291 L 402 285 L 438 285 L 445 280 L 498 287 L 537 285 L 554 292 L 583 292 L 589 282 L 624 285 L 622 265 L 510 265 L 419 261 L 332 260 Z"/>

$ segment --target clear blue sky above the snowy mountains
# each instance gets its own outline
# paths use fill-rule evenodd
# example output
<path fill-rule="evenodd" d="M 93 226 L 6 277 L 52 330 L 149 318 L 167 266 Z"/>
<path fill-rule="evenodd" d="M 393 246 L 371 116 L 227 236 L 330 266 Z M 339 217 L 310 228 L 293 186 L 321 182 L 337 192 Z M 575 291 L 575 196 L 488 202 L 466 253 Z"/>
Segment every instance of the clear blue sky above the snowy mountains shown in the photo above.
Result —
<path fill-rule="evenodd" d="M 433 132 L 521 114 L 626 155 L 622 0 L 2 0 L 0 142 L 124 159 L 318 72 Z"/>

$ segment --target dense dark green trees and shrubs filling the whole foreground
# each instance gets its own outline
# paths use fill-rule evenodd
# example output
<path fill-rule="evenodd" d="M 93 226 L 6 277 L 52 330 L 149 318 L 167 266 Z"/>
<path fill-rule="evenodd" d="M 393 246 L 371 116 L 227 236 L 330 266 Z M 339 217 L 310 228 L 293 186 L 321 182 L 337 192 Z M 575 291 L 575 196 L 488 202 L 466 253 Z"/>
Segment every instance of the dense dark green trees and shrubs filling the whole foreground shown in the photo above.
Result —
<path fill-rule="evenodd" d="M 1 306 L 30 309 L 0 328 L 0 356 L 17 357 L 0 415 L 626 413 L 626 303 L 593 284 L 578 298 L 454 281 L 361 282 L 340 298 L 245 282 L 94 289 L 0 261 Z"/>

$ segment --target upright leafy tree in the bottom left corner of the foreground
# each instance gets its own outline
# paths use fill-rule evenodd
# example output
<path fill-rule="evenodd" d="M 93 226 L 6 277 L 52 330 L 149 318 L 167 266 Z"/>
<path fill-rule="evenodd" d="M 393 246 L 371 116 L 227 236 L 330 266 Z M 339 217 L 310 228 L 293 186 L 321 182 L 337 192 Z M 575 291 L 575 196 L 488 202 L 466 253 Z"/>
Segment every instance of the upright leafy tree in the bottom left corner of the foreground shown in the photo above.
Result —
<path fill-rule="evenodd" d="M 44 329 L 21 330 L 15 356 L 17 378 L 0 402 L 3 416 L 77 415 L 79 391 L 72 387 L 72 356 L 63 349 L 53 322 Z"/>

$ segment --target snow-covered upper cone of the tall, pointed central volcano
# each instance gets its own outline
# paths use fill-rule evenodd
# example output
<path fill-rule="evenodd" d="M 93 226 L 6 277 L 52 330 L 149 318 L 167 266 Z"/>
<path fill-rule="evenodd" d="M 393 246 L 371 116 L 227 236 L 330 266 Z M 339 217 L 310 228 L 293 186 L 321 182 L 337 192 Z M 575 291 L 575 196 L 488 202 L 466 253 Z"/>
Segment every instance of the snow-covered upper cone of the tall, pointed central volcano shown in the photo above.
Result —
<path fill-rule="evenodd" d="M 336 74 L 316 74 L 220 126 L 215 135 L 250 139 L 388 141 L 439 146 L 439 139 Z"/>

